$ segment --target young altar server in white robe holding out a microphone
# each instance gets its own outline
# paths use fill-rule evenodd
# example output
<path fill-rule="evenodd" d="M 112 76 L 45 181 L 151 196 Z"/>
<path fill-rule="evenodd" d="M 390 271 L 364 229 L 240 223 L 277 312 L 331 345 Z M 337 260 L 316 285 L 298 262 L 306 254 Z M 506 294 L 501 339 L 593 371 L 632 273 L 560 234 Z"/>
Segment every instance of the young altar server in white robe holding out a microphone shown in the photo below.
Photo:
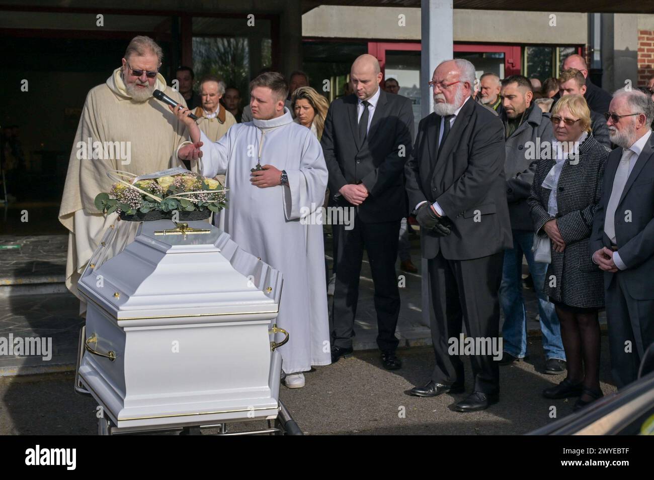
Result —
<path fill-rule="evenodd" d="M 322 206 L 328 174 L 316 136 L 284 107 L 287 94 L 281 74 L 256 77 L 250 82 L 254 120 L 234 125 L 218 142 L 201 133 L 183 108 L 173 111 L 194 142 L 179 149 L 179 158 L 202 157 L 202 174 L 209 178 L 227 175 L 221 227 L 283 274 L 277 325 L 290 340 L 279 351 L 286 386 L 299 388 L 302 372 L 331 362 L 322 226 L 301 221 Z"/>

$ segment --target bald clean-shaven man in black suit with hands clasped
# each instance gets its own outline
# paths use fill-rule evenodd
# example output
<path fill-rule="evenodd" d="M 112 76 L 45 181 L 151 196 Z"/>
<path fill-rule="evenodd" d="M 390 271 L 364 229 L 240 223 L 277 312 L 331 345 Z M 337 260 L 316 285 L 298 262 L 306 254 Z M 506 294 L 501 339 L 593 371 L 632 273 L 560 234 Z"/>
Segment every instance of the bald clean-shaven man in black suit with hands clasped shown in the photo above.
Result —
<path fill-rule="evenodd" d="M 379 62 L 358 57 L 351 69 L 354 94 L 330 106 L 322 133 L 332 206 L 352 208 L 352 229 L 334 225 L 336 286 L 332 309 L 332 362 L 352 353 L 354 316 L 364 247 L 375 284 L 377 345 L 388 370 L 395 354 L 400 292 L 395 272 L 400 220 L 406 215 L 404 165 L 411 153 L 411 101 L 381 88 Z"/>

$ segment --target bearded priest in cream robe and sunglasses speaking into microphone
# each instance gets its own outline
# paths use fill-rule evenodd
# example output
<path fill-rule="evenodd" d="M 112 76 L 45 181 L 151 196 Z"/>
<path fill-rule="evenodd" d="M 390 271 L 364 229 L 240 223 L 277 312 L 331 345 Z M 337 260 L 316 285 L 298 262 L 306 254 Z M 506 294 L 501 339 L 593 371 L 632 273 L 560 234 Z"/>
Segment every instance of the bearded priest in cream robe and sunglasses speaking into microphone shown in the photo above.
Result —
<path fill-rule="evenodd" d="M 59 212 L 61 223 L 69 230 L 66 286 L 78 298 L 77 280 L 107 228 L 120 229 L 113 242 L 117 247 L 127 242 L 139 225 L 117 225 L 116 213 L 105 217 L 95 208 L 95 196 L 112 187 L 107 171 L 143 175 L 181 165 L 177 148 L 186 140 L 186 127 L 152 97 L 154 89 L 159 89 L 186 106 L 182 96 L 166 86 L 158 73 L 162 57 L 162 49 L 154 40 L 134 37 L 122 65 L 86 96 Z M 86 145 L 93 146 L 91 152 L 84 148 Z M 102 152 L 94 145 L 103 146 Z M 82 314 L 86 303 L 82 298 L 80 302 Z"/>

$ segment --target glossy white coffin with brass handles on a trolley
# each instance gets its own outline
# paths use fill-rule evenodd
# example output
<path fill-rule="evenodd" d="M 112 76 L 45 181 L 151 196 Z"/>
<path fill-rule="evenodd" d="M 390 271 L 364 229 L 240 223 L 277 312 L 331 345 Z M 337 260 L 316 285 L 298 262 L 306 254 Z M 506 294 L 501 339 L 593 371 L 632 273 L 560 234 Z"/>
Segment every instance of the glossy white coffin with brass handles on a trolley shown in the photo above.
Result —
<path fill-rule="evenodd" d="M 281 356 L 268 330 L 281 273 L 209 223 L 188 225 L 210 232 L 162 235 L 172 221 L 144 222 L 111 256 L 128 227 L 118 222 L 78 283 L 88 301 L 78 375 L 118 428 L 277 416 Z"/>

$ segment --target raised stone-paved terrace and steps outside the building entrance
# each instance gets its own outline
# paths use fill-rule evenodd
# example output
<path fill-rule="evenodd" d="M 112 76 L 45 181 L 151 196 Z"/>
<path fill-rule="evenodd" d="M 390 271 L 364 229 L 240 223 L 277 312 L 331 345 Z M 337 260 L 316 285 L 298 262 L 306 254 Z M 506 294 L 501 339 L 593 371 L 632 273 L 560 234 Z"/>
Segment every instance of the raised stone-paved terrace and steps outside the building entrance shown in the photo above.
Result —
<path fill-rule="evenodd" d="M 20 245 L 20 249 L 0 249 L 0 337 L 46 336 L 52 338 L 52 360 L 3 355 L 0 376 L 58 372 L 73 368 L 82 320 L 78 317 L 78 300 L 65 291 L 63 277 L 67 236 L 0 235 L 0 246 Z M 326 244 L 331 263 L 331 242 Z M 413 260 L 420 269 L 419 242 L 412 242 Z M 431 345 L 428 325 L 422 320 L 421 275 L 402 272 L 402 299 L 397 336 L 400 347 Z M 526 271 L 526 270 L 525 270 Z M 61 293 L 65 291 L 66 293 Z M 20 295 L 16 295 L 16 292 Z M 373 307 L 373 282 L 370 264 L 364 257 L 361 272 L 359 306 L 355 325 L 354 348 L 376 349 L 377 319 Z M 523 289 L 528 314 L 528 330 L 538 334 L 538 309 L 531 289 Z M 331 304 L 331 302 L 330 302 Z M 600 319 L 603 321 L 603 318 Z"/>

